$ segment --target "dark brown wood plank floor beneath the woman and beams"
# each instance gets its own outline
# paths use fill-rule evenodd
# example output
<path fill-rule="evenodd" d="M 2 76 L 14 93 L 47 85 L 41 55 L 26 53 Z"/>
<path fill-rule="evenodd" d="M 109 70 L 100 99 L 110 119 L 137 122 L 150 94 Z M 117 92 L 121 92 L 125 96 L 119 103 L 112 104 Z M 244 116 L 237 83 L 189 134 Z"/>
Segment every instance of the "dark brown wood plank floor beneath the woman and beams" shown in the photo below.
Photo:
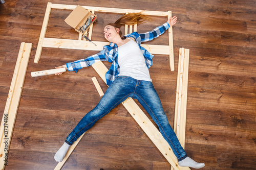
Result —
<path fill-rule="evenodd" d="M 50 0 L 49 0 L 50 1 Z M 32 78 L 31 71 L 52 69 L 93 51 L 44 48 L 34 56 L 48 1 L 7 0 L 0 4 L 0 112 L 4 112 L 20 43 L 33 43 L 6 169 L 54 169 L 54 154 L 84 114 L 99 102 L 92 67 L 61 76 Z M 175 71 L 168 56 L 155 55 L 153 84 L 173 126 L 178 51 L 190 49 L 185 151 L 202 169 L 256 169 L 256 1 L 134 0 L 50 1 L 139 10 L 171 10 Z M 77 39 L 64 19 L 70 10 L 52 10 L 47 37 Z M 96 13 L 92 40 L 120 14 Z M 166 21 L 155 17 L 138 27 L 150 31 Z M 152 42 L 150 42 L 152 43 Z M 167 44 L 167 33 L 154 40 Z M 107 66 L 109 63 L 104 62 Z M 62 169 L 169 169 L 170 165 L 121 105 L 100 119 L 78 144 Z"/>

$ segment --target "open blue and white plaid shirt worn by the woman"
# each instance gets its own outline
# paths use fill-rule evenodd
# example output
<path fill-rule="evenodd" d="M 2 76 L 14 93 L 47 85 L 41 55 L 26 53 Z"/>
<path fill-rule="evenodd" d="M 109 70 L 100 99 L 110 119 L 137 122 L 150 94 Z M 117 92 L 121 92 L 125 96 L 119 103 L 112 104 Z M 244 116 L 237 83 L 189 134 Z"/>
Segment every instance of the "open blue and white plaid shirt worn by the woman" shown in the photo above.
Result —
<path fill-rule="evenodd" d="M 131 34 L 125 35 L 125 37 L 133 37 L 140 47 L 140 51 L 145 58 L 145 62 L 147 68 L 150 68 L 153 64 L 152 58 L 154 57 L 150 52 L 148 52 L 144 47 L 140 44 L 141 42 L 151 41 L 154 38 L 159 37 L 169 28 L 168 22 L 164 23 L 162 26 L 155 28 L 150 32 L 146 32 L 143 34 L 139 34 L 137 32 L 133 32 Z M 69 71 L 77 71 L 82 67 L 88 67 L 94 64 L 97 61 L 109 61 L 112 63 L 110 69 L 105 74 L 106 84 L 110 85 L 119 75 L 120 67 L 117 62 L 118 57 L 118 47 L 115 43 L 110 43 L 110 45 L 105 45 L 103 50 L 95 55 L 92 55 L 86 59 L 77 60 L 74 62 L 67 63 L 67 68 Z"/>

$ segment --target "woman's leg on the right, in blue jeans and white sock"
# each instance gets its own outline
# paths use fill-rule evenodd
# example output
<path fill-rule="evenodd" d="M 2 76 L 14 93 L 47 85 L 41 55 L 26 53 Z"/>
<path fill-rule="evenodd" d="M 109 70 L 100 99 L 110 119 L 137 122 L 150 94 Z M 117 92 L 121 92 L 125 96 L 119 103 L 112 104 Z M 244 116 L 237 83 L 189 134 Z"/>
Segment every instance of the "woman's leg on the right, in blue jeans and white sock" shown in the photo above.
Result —
<path fill-rule="evenodd" d="M 145 110 L 151 115 L 154 122 L 157 124 L 160 133 L 163 135 L 164 139 L 169 143 L 175 156 L 178 158 L 179 164 L 182 166 L 190 166 L 194 168 L 201 168 L 204 164 L 190 161 L 187 157 L 186 152 L 181 147 L 181 144 L 173 130 L 168 123 L 167 116 L 165 115 L 162 104 L 160 102 L 159 96 L 152 84 L 148 81 L 139 81 L 136 87 L 134 98 L 137 99 L 140 104 L 145 108 Z M 184 160 L 183 162 L 181 162 Z M 186 161 L 187 160 L 187 161 Z M 187 164 L 188 160 L 190 163 Z M 193 162 L 194 161 L 194 162 Z M 181 163 L 180 163 L 181 162 Z"/>

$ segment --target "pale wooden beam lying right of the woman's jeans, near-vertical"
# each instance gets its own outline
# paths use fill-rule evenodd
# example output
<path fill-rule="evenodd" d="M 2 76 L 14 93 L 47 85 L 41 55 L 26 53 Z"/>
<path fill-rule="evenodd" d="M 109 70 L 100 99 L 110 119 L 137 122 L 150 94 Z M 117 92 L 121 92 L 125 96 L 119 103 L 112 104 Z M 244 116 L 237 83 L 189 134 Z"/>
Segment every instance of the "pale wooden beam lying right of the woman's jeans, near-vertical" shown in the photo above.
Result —
<path fill-rule="evenodd" d="M 174 132 L 185 148 L 189 49 L 180 48 L 177 74 Z M 171 168 L 173 169 L 173 167 Z"/>

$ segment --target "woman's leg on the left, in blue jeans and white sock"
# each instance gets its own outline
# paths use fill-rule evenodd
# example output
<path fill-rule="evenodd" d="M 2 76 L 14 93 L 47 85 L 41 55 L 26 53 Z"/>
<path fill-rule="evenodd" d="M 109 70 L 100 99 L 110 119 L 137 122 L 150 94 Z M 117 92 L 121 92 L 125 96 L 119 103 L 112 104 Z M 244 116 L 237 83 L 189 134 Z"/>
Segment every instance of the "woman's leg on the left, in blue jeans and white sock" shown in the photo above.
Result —
<path fill-rule="evenodd" d="M 55 160 L 60 162 L 65 157 L 70 145 L 84 132 L 89 130 L 101 117 L 108 114 L 118 104 L 126 100 L 134 92 L 134 81 L 129 77 L 117 78 L 106 90 L 98 105 L 84 115 L 74 130 L 68 135 L 65 143 L 55 155 Z"/>

